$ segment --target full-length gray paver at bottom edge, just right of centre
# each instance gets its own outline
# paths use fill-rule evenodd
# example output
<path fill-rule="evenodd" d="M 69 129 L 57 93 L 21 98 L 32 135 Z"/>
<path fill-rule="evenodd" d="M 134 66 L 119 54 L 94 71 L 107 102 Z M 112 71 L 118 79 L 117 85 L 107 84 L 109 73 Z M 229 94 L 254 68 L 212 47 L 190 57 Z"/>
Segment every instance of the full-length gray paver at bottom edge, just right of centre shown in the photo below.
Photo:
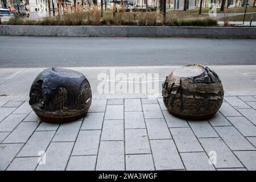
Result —
<path fill-rule="evenodd" d="M 156 170 L 184 169 L 174 140 L 150 140 Z"/>

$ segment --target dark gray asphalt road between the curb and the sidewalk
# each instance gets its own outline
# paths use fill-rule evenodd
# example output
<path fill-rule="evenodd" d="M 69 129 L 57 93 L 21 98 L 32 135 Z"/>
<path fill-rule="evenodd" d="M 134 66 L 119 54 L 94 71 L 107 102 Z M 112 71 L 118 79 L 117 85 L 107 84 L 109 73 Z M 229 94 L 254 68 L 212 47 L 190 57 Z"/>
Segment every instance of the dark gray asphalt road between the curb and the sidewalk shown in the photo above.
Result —
<path fill-rule="evenodd" d="M 0 68 L 256 65 L 256 39 L 0 36 Z"/>

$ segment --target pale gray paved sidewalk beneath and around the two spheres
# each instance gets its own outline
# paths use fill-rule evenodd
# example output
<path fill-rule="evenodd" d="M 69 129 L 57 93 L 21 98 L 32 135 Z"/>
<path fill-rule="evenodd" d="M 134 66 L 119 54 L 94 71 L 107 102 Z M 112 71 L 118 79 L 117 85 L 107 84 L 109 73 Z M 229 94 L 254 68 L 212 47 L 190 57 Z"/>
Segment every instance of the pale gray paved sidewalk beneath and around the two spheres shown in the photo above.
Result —
<path fill-rule="evenodd" d="M 174 68 L 71 68 L 86 75 L 93 101 L 85 118 L 61 125 L 40 122 L 27 102 L 43 68 L 0 69 L 0 94 L 9 95 L 0 97 L 0 170 L 256 170 L 256 66 L 210 66 L 225 101 L 209 121 L 166 110 L 160 85 Z M 98 75 L 111 91 L 113 70 L 159 73 L 159 93 L 108 93 L 106 80 L 98 93 Z"/>

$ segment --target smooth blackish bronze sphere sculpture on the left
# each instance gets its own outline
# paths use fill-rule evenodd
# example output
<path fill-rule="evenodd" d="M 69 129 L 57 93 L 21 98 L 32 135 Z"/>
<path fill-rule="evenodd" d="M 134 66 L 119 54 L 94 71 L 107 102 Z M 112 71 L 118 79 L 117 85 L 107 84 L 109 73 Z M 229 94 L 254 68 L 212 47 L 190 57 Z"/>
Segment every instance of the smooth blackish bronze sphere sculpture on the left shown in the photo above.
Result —
<path fill-rule="evenodd" d="M 39 73 L 32 83 L 29 103 L 42 121 L 75 121 L 89 110 L 92 90 L 82 73 L 48 68 Z"/>

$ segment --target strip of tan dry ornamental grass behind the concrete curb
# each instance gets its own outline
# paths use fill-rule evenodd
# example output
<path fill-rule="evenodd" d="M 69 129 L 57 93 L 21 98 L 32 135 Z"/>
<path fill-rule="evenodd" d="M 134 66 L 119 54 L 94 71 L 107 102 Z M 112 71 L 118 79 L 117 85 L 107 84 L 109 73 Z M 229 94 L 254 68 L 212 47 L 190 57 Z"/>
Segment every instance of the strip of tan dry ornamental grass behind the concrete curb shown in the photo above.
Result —
<path fill-rule="evenodd" d="M 182 15 L 182 16 L 181 16 Z M 134 25 L 134 26 L 216 26 L 217 20 L 205 18 L 205 15 L 189 15 L 168 12 L 166 19 L 160 12 L 125 12 L 125 7 L 116 11 L 107 11 L 101 17 L 101 11 L 95 6 L 86 12 L 67 13 L 61 16 L 51 16 L 39 20 L 27 18 L 10 19 L 9 24 L 22 25 L 53 25 L 53 26 L 80 26 L 80 25 Z M 198 24 L 197 24 L 198 23 Z"/>

